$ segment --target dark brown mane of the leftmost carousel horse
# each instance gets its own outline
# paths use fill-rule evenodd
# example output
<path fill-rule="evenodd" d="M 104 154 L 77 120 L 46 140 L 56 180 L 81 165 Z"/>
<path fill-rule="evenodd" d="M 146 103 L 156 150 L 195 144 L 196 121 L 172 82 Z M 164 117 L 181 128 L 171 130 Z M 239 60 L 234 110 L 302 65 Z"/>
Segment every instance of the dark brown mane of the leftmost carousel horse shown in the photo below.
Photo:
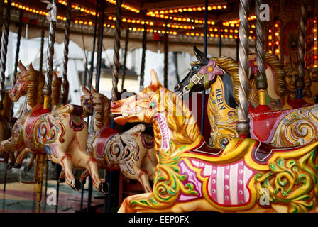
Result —
<path fill-rule="evenodd" d="M 43 87 L 44 75 L 37 70 L 28 70 L 26 96 L 28 98 L 28 105 L 34 107 L 36 104 L 43 104 Z"/>

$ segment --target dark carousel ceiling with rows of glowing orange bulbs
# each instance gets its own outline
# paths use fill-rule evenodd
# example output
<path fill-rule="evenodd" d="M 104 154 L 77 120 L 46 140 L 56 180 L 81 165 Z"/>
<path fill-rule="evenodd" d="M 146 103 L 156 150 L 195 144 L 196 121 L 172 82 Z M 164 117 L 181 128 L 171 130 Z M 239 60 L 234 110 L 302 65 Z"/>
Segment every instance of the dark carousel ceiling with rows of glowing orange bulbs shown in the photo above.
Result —
<path fill-rule="evenodd" d="M 2 0 L 1 0 L 2 1 Z M 116 0 L 105 1 L 104 38 L 114 38 L 116 20 Z M 272 0 L 273 1 L 273 0 Z M 7 0 L 4 0 L 6 3 Z M 263 1 L 269 3 L 271 1 Z M 311 1 L 309 1 L 311 2 Z M 49 0 L 13 0 L 11 1 L 11 21 L 18 22 L 19 12 L 23 11 L 23 23 L 28 23 L 28 38 L 40 36 L 43 21 L 45 32 L 48 32 Z M 122 3 L 121 38 L 124 39 L 126 29 L 130 31 L 129 48 L 141 47 L 144 24 L 148 33 L 148 49 L 158 50 L 158 40 L 162 40 L 165 33 L 169 34 L 169 43 L 174 45 L 193 45 L 203 43 L 204 36 L 204 0 L 126 0 Z M 309 3 L 310 4 L 310 3 Z M 57 0 L 57 43 L 61 43 L 66 20 L 66 0 Z M 72 0 L 70 39 L 82 48 L 92 49 L 92 35 L 96 16 L 96 1 Z M 208 44 L 216 46 L 219 38 L 224 45 L 236 45 L 238 38 L 238 0 L 209 0 L 208 4 Z M 255 39 L 254 1 L 250 1 L 250 35 Z M 99 14 L 98 14 L 99 16 Z M 14 24 L 14 23 L 13 23 Z M 12 26 L 11 26 L 12 27 Z M 11 31 L 17 28 L 10 28 Z M 23 34 L 23 33 L 22 33 Z M 46 34 L 47 35 L 47 34 Z M 85 37 L 85 43 L 82 42 Z M 88 37 L 87 37 L 88 36 Z M 90 37 L 90 38 L 89 38 Z M 151 43 L 151 41 L 155 41 Z M 135 42 L 136 45 L 133 43 Z M 109 42 L 106 42 L 109 43 Z M 111 48 L 113 43 L 109 44 Z M 192 49 L 192 48 L 190 48 Z M 192 52 L 192 50 L 191 50 Z"/>

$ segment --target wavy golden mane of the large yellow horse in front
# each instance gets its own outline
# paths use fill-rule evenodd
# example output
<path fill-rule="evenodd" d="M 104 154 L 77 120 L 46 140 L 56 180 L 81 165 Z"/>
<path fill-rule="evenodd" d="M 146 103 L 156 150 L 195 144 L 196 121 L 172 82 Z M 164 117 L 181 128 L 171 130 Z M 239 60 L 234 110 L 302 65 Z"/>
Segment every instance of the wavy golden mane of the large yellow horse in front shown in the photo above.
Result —
<path fill-rule="evenodd" d="M 160 100 L 164 100 L 164 105 L 168 106 L 167 125 L 171 130 L 171 138 L 179 145 L 194 143 L 201 133 L 187 105 L 170 91 L 163 92 Z M 173 114 L 169 110 L 173 110 Z"/>

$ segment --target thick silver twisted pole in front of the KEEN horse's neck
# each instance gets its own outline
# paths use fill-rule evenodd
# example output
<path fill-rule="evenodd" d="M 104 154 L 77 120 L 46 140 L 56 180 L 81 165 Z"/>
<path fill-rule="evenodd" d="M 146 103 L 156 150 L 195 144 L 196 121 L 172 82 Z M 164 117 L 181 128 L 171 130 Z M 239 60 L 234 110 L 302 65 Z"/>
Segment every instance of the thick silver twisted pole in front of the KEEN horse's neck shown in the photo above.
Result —
<path fill-rule="evenodd" d="M 240 0 L 238 14 L 240 18 L 240 26 L 238 28 L 238 35 L 240 39 L 238 47 L 238 77 L 240 84 L 238 87 L 238 123 L 236 130 L 238 135 L 246 138 L 249 132 L 249 118 L 248 118 L 248 0 Z"/>

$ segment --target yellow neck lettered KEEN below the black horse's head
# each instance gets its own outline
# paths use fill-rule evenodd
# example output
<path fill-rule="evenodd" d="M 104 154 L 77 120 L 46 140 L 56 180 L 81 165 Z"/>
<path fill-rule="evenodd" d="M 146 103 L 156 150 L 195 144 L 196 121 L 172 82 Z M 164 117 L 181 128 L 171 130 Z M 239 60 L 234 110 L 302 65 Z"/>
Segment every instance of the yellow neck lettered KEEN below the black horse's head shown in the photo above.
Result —
<path fill-rule="evenodd" d="M 234 98 L 234 97 L 233 97 Z M 211 92 L 208 101 L 208 116 L 211 122 L 212 117 L 216 117 L 220 121 L 229 121 L 229 116 L 237 115 L 237 109 L 232 108 L 226 103 L 224 83 L 221 77 L 217 76 L 216 81 L 211 84 Z M 232 121 L 236 121 L 233 118 Z"/>

